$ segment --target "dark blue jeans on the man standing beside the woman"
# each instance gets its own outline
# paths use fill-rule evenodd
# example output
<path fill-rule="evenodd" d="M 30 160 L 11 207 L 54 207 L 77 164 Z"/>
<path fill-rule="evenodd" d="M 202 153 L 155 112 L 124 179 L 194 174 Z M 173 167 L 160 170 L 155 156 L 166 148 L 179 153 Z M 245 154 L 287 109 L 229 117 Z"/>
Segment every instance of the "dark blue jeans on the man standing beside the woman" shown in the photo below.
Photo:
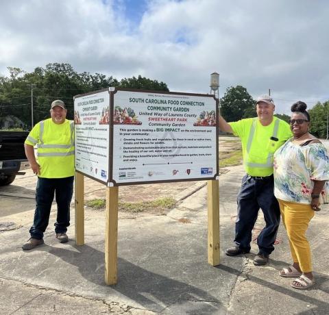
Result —
<path fill-rule="evenodd" d="M 235 224 L 235 244 L 245 250 L 250 250 L 252 229 L 261 209 L 265 218 L 265 227 L 257 238 L 259 253 L 269 255 L 274 250 L 274 242 L 280 223 L 280 207 L 274 197 L 273 176 L 265 179 L 254 179 L 245 175 L 241 190 L 237 197 L 238 215 Z"/>

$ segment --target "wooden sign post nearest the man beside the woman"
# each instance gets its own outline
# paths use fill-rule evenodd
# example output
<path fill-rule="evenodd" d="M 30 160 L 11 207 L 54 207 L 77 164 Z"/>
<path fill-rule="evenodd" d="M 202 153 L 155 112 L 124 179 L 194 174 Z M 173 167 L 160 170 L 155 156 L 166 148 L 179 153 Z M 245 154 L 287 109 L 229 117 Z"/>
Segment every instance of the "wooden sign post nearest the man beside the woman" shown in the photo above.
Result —
<path fill-rule="evenodd" d="M 219 181 L 208 181 L 208 263 L 219 265 Z"/>

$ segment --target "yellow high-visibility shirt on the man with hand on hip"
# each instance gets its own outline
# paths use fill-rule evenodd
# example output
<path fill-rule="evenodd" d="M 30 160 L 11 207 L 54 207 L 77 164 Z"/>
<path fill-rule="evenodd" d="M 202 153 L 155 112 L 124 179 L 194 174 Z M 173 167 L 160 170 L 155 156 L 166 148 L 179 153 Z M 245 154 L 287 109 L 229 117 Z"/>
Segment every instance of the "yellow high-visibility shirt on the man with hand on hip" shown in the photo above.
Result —
<path fill-rule="evenodd" d="M 74 125 L 67 119 L 62 124 L 46 119 L 29 132 L 25 144 L 37 145 L 39 177 L 64 178 L 74 175 Z"/>

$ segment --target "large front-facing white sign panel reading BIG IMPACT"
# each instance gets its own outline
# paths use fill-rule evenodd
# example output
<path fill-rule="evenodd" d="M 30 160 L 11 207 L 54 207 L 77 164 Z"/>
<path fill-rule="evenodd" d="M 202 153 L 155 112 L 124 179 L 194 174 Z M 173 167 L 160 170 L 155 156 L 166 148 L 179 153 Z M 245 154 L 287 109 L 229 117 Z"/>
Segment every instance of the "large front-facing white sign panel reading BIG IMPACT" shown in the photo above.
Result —
<path fill-rule="evenodd" d="M 214 97 L 118 90 L 112 110 L 115 185 L 216 177 Z"/>

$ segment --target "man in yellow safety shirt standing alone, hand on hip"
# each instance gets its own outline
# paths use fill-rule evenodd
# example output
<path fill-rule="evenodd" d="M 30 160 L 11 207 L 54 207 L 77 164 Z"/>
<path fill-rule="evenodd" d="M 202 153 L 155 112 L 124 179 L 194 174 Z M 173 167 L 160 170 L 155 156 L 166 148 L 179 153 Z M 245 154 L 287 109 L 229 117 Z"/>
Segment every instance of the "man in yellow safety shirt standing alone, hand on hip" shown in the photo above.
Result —
<path fill-rule="evenodd" d="M 29 229 L 31 238 L 23 244 L 23 250 L 43 244 L 54 195 L 57 203 L 56 238 L 62 243 L 69 240 L 66 231 L 70 225 L 73 195 L 74 125 L 73 121 L 66 119 L 66 113 L 63 101 L 53 101 L 51 118 L 37 123 L 25 140 L 25 154 L 34 174 L 38 175 L 38 182 L 34 223 Z M 37 160 L 35 145 L 38 147 Z"/>

